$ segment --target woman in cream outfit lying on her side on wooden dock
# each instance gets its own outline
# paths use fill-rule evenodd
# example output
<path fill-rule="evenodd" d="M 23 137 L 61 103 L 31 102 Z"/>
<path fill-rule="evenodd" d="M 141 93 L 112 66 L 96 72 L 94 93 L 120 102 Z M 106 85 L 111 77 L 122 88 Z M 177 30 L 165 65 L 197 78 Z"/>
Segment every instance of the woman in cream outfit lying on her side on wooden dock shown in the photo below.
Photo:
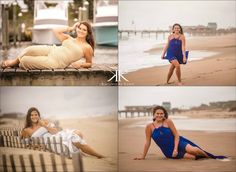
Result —
<path fill-rule="evenodd" d="M 64 33 L 72 30 L 76 30 L 76 38 Z M 90 68 L 92 66 L 94 37 L 91 25 L 88 22 L 75 23 L 73 27 L 56 28 L 53 31 L 62 42 L 61 46 L 29 46 L 17 58 L 3 61 L 1 67 L 19 66 L 27 70 L 64 69 L 68 66 Z M 84 63 L 79 61 L 81 58 L 85 58 Z"/>

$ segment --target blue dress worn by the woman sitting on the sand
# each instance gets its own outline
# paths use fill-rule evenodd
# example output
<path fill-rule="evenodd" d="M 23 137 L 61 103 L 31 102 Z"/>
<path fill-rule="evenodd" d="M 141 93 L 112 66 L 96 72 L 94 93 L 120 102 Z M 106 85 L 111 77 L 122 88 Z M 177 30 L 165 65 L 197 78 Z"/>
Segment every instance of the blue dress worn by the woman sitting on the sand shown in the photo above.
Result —
<path fill-rule="evenodd" d="M 198 147 L 196 144 L 191 142 L 190 140 L 180 136 L 179 137 L 179 146 L 178 146 L 178 155 L 176 157 L 172 157 L 172 153 L 174 151 L 174 135 L 170 128 L 161 126 L 158 128 L 155 128 L 152 133 L 152 139 L 155 141 L 155 143 L 160 147 L 161 151 L 167 158 L 173 158 L 173 159 L 181 159 L 184 157 L 184 154 L 186 153 L 185 147 L 187 144 L 190 144 L 194 147 Z M 201 148 L 200 148 L 201 149 Z M 203 150 L 203 149 L 201 149 Z M 205 150 L 203 150 L 209 157 L 213 159 L 224 159 L 227 158 L 225 156 L 215 156 L 212 155 Z M 203 158 L 203 157 L 197 157 L 196 159 Z"/>

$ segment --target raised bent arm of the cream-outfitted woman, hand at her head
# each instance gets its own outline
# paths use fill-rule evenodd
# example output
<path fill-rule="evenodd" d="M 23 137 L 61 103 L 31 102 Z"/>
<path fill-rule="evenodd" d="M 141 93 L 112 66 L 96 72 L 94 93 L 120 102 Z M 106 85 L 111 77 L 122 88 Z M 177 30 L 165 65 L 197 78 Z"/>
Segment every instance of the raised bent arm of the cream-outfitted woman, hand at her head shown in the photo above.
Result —
<path fill-rule="evenodd" d="M 70 35 L 65 34 L 64 32 L 70 32 L 70 31 L 74 30 L 78 24 L 79 24 L 79 23 L 77 22 L 77 23 L 75 23 L 72 27 L 67 26 L 67 27 L 55 28 L 55 29 L 53 29 L 53 33 L 56 35 L 56 37 L 57 37 L 61 42 L 63 42 L 64 40 L 66 40 L 66 39 L 68 39 L 68 38 L 71 37 Z"/>

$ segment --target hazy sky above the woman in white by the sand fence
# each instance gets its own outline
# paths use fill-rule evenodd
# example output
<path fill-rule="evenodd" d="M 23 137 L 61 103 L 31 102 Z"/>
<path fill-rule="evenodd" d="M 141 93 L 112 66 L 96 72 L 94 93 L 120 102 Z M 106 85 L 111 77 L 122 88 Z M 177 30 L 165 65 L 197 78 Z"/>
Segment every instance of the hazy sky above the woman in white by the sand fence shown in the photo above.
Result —
<path fill-rule="evenodd" d="M 43 117 L 109 115 L 117 112 L 116 87 L 1 87 L 2 113 L 37 107 Z"/>

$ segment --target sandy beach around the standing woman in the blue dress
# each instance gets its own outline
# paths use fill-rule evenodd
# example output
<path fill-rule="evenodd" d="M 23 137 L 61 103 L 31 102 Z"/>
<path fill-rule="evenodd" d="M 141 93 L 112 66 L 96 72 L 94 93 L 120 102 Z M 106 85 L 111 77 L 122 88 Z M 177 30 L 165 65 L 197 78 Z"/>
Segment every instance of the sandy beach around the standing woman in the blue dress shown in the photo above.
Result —
<path fill-rule="evenodd" d="M 189 61 L 187 65 L 181 65 L 183 85 L 236 85 L 236 35 L 194 37 L 187 40 L 186 49 L 212 51 L 218 54 L 197 61 Z M 164 46 L 164 45 L 163 45 Z M 163 47 L 157 47 L 147 51 L 150 54 L 162 52 Z M 191 55 L 190 57 L 191 58 Z M 148 59 L 147 59 L 148 60 Z M 167 85 L 166 77 L 169 65 L 140 69 L 124 74 L 129 80 L 129 85 Z M 176 85 L 177 78 L 173 74 L 171 84 Z M 122 81 L 120 85 L 127 84 Z"/>

